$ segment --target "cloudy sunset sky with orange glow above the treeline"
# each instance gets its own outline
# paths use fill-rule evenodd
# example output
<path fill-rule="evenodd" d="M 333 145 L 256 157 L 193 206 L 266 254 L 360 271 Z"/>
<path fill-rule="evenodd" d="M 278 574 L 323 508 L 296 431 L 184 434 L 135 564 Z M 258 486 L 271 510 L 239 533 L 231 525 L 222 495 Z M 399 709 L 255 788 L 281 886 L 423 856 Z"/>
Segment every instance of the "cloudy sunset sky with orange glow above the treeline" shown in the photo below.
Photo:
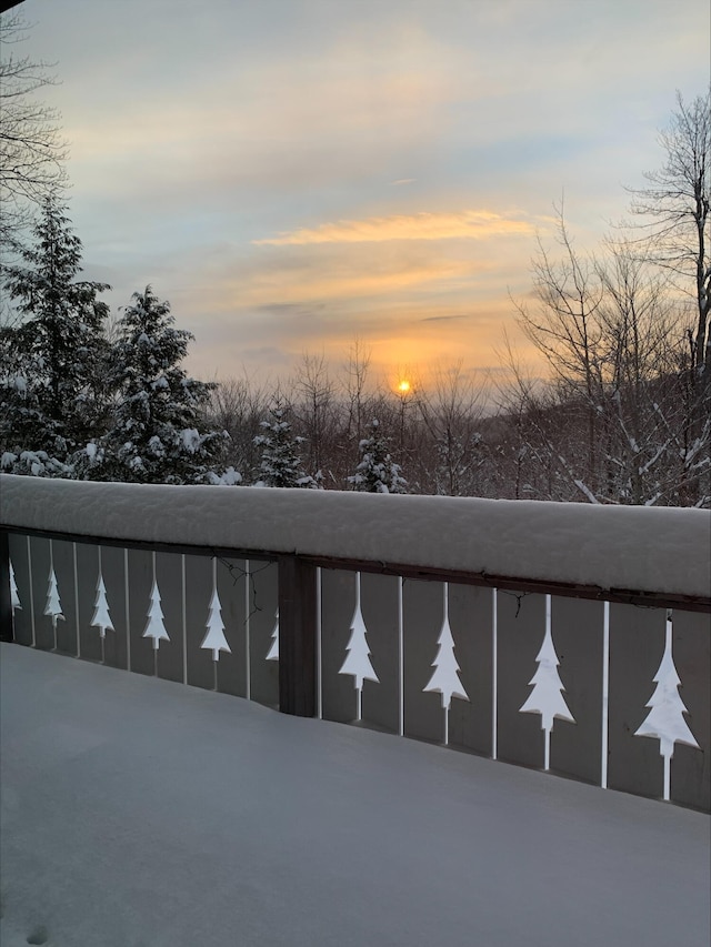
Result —
<path fill-rule="evenodd" d="M 112 310 L 151 283 L 190 370 L 498 364 L 553 202 L 582 248 L 709 82 L 708 0 L 27 0 Z M 524 346 L 522 353 L 525 355 Z"/>

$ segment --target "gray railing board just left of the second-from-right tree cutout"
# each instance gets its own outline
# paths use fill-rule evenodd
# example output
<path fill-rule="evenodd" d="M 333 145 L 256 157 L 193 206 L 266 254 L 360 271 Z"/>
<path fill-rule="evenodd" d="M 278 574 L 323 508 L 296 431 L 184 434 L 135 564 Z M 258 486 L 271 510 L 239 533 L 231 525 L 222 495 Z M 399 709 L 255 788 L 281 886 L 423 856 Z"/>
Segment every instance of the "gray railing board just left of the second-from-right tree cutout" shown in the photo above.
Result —
<path fill-rule="evenodd" d="M 545 632 L 545 596 L 499 592 L 497 611 L 498 756 L 509 763 L 542 767 L 545 735 L 541 717 L 521 713 L 521 707 L 531 694 L 529 682 Z"/>

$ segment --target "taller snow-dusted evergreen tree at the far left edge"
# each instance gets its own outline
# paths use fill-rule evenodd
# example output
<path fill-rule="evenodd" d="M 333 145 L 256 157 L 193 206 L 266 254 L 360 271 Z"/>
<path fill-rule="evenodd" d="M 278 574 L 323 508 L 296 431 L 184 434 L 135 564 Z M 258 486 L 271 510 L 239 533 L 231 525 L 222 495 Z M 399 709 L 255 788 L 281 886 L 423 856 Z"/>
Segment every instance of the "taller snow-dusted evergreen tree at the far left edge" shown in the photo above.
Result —
<path fill-rule="evenodd" d="M 0 447 L 13 473 L 69 475 L 72 453 L 106 420 L 106 283 L 77 280 L 81 241 L 48 199 L 33 245 L 6 270 L 19 324 L 0 340 Z"/>

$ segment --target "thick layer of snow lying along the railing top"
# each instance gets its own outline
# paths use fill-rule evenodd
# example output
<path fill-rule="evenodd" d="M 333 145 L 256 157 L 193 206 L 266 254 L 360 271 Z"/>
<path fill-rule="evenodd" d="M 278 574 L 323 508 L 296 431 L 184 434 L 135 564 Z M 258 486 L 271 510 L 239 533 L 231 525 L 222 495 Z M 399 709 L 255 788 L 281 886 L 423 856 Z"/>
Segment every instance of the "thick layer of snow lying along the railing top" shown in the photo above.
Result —
<path fill-rule="evenodd" d="M 0 523 L 708 598 L 711 512 L 0 476 Z"/>

